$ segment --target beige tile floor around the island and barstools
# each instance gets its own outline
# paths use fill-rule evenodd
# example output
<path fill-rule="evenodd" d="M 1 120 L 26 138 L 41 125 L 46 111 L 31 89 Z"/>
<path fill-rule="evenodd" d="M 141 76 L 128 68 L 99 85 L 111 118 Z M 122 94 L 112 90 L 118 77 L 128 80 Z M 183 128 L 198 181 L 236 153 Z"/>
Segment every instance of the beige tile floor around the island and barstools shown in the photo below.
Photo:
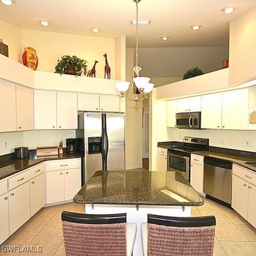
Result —
<path fill-rule="evenodd" d="M 65 256 L 62 237 L 61 212 L 84 212 L 81 204 L 45 207 L 35 214 L 25 225 L 7 239 L 0 249 L 2 255 L 47 255 Z M 256 255 L 256 229 L 239 216 L 235 211 L 205 199 L 205 204 L 193 207 L 193 216 L 214 215 L 217 219 L 213 256 L 253 256 Z M 6 253 L 2 246 L 15 245 L 43 247 L 41 253 Z"/>

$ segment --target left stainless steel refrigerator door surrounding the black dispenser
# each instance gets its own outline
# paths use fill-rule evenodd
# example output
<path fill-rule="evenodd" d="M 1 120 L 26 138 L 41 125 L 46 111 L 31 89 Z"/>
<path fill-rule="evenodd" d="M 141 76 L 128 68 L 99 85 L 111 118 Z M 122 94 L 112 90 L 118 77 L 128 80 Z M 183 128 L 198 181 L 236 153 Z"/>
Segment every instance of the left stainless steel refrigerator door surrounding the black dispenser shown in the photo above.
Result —
<path fill-rule="evenodd" d="M 101 113 L 84 113 L 84 175 L 83 184 L 87 182 L 94 172 L 102 170 L 102 154 L 91 154 L 89 150 L 89 138 L 101 137 Z M 93 141 L 93 139 L 91 140 Z M 90 154 L 89 154 L 90 153 Z"/>

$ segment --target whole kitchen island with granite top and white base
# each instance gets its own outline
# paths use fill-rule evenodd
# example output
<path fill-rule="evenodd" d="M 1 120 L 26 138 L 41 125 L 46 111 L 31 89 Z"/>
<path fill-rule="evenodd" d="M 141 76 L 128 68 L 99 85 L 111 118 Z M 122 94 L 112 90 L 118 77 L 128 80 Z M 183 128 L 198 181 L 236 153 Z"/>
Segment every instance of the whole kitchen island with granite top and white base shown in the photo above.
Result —
<path fill-rule="evenodd" d="M 200 195 L 178 172 L 98 171 L 74 197 L 88 214 L 127 213 L 137 223 L 133 256 L 142 255 L 140 223 L 147 214 L 190 217 L 191 206 L 203 205 Z"/>

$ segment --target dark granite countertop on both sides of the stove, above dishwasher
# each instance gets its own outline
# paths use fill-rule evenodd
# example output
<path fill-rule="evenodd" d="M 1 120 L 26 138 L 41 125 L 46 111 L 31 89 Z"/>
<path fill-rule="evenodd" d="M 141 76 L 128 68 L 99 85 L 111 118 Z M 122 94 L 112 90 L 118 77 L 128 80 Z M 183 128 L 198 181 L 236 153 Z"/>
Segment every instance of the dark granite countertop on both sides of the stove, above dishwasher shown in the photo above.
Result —
<path fill-rule="evenodd" d="M 158 142 L 157 146 L 161 148 L 169 149 L 174 146 L 177 146 L 178 143 L 182 143 L 182 142 L 178 142 L 178 141 Z M 246 164 L 246 162 L 256 162 L 255 152 L 210 146 L 209 150 L 207 151 L 194 151 L 194 152 L 191 152 L 191 154 L 223 159 L 256 172 L 256 165 L 254 167 L 252 165 Z"/>

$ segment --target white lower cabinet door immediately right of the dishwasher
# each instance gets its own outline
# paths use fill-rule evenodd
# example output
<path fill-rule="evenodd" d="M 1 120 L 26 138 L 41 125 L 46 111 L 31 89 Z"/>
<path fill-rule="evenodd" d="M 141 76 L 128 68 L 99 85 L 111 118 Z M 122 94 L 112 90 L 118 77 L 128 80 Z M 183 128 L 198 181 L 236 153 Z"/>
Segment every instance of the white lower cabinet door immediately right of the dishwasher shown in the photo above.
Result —
<path fill-rule="evenodd" d="M 233 174 L 231 206 L 246 220 L 248 217 L 248 190 L 248 183 Z"/>

